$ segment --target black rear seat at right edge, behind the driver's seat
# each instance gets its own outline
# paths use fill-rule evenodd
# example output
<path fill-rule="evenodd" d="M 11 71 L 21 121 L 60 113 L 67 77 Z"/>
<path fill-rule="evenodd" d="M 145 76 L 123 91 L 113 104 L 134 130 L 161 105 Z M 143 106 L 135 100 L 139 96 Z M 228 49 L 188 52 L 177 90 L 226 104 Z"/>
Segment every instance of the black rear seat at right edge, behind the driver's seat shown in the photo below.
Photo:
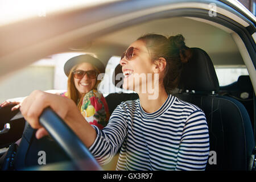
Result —
<path fill-rule="evenodd" d="M 254 91 L 249 75 L 241 75 L 236 82 L 226 86 L 220 86 L 218 94 L 233 97 L 240 101 L 245 106 L 251 119 L 251 125 L 254 127 Z"/>

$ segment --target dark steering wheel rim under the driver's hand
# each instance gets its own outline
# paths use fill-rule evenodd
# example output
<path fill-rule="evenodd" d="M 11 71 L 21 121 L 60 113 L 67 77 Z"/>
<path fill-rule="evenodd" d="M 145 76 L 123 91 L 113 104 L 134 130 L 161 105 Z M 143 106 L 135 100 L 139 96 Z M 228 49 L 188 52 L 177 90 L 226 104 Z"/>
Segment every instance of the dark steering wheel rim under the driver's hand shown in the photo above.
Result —
<path fill-rule="evenodd" d="M 77 169 L 101 170 L 97 160 L 90 154 L 84 143 L 51 108 L 44 109 L 39 122 L 72 159 Z"/>

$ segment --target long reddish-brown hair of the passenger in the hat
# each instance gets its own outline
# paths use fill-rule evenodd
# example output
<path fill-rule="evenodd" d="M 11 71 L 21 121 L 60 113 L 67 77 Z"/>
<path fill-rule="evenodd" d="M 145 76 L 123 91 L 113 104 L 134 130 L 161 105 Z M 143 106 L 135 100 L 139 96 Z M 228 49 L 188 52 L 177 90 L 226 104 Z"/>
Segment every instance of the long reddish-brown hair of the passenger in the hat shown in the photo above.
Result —
<path fill-rule="evenodd" d="M 76 70 L 76 68 L 79 66 L 79 64 L 75 65 L 73 68 L 71 68 L 69 74 L 68 74 L 68 98 L 73 100 L 76 105 L 77 108 L 79 110 L 81 110 L 81 106 L 82 106 L 82 98 L 84 98 L 85 94 L 82 94 L 81 98 L 79 97 L 79 91 L 76 89 L 76 85 L 75 85 L 75 81 L 74 81 L 74 77 L 73 77 L 73 71 Z M 92 65 L 93 66 L 93 65 Z M 98 69 L 96 67 L 93 66 L 93 68 L 100 73 L 100 71 L 98 71 Z M 96 78 L 97 79 L 97 78 Z M 98 84 L 100 84 L 101 80 L 96 80 L 96 84 L 94 85 L 93 89 L 97 90 Z"/>

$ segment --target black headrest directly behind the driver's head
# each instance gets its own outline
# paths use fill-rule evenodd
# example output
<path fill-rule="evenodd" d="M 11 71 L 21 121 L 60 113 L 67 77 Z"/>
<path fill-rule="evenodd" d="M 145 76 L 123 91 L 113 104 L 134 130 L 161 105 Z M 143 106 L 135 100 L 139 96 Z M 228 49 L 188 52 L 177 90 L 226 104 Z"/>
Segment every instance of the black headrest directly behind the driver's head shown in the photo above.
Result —
<path fill-rule="evenodd" d="M 212 92 L 220 88 L 212 60 L 200 48 L 191 48 L 192 57 L 184 64 L 178 88 Z"/>

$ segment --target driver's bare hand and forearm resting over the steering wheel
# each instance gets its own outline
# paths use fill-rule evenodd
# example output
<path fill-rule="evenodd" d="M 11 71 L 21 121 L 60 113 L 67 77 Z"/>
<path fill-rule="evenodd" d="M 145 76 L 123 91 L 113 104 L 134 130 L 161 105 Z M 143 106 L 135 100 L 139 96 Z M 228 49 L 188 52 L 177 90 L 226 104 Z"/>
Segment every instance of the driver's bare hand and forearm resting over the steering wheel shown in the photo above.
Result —
<path fill-rule="evenodd" d="M 40 125 L 39 116 L 46 107 L 51 107 L 76 135 L 82 140 L 86 147 L 90 147 L 96 139 L 96 131 L 82 117 L 76 104 L 65 97 L 56 94 L 35 90 L 21 104 L 20 111 L 31 127 L 38 129 L 36 138 L 47 135 L 47 131 Z"/>

